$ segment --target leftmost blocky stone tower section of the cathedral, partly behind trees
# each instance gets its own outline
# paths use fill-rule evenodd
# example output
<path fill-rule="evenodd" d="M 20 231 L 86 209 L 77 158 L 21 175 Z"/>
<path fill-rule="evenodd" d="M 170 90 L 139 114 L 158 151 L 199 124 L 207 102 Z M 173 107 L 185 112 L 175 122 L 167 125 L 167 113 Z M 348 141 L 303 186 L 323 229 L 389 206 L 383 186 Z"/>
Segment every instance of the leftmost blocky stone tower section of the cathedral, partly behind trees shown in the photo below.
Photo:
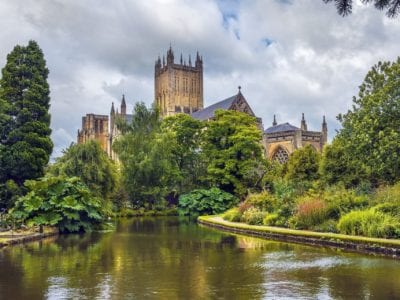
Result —
<path fill-rule="evenodd" d="M 78 144 L 89 140 L 97 140 L 101 148 L 108 152 L 109 133 L 108 116 L 87 114 L 82 117 L 82 129 L 78 130 Z"/>

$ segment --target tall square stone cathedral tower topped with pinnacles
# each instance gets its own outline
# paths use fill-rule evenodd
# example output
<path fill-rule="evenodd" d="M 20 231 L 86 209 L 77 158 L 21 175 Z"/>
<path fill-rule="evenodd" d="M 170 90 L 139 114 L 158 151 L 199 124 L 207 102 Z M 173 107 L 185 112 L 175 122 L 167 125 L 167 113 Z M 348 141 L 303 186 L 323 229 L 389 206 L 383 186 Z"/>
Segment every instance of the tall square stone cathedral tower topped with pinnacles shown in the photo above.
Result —
<path fill-rule="evenodd" d="M 154 70 L 154 101 L 160 109 L 161 117 L 177 113 L 191 114 L 203 109 L 203 59 L 196 54 L 192 65 L 182 55 L 175 64 L 174 52 L 170 47 L 167 59 L 158 57 Z"/>

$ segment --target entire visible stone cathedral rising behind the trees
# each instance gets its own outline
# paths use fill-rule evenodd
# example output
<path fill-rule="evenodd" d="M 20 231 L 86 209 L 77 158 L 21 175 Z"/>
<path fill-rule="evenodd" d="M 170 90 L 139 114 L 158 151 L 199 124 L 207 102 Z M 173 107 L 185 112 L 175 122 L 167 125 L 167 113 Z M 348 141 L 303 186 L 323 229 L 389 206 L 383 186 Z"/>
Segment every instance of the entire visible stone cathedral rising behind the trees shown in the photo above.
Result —
<path fill-rule="evenodd" d="M 241 92 L 222 101 L 203 107 L 203 58 L 196 54 L 192 64 L 191 56 L 188 61 L 180 56 L 175 63 L 174 52 L 170 47 L 166 58 L 158 57 L 154 67 L 154 102 L 160 109 L 161 118 L 178 113 L 191 115 L 201 121 L 212 121 L 217 109 L 235 110 L 247 113 L 256 118 L 257 126 L 263 131 L 265 156 L 270 160 L 284 163 L 290 154 L 305 145 L 311 145 L 316 151 L 322 151 L 327 143 L 328 127 L 323 117 L 321 131 L 309 131 L 302 116 L 300 128 L 289 123 L 278 124 L 276 117 L 272 126 L 264 131 L 261 118 L 258 118 L 248 101 Z M 82 117 L 82 129 L 78 130 L 78 143 L 88 140 L 99 141 L 102 149 L 113 160 L 118 160 L 112 150 L 113 142 L 120 135 L 116 120 L 122 118 L 127 123 L 132 121 L 132 115 L 126 113 L 125 95 L 122 96 L 120 110 L 111 105 L 110 116 L 87 114 Z"/>

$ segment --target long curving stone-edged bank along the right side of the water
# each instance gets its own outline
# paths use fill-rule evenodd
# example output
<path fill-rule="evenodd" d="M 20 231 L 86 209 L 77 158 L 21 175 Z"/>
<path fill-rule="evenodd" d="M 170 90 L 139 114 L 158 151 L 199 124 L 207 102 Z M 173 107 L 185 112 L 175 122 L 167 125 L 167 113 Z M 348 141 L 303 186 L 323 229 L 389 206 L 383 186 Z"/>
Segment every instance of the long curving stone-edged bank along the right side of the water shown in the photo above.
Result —
<path fill-rule="evenodd" d="M 197 221 L 199 224 L 232 233 L 285 242 L 327 246 L 362 253 L 383 254 L 400 258 L 400 240 L 368 238 L 272 226 L 248 225 L 244 223 L 225 221 L 220 216 L 200 216 Z"/>

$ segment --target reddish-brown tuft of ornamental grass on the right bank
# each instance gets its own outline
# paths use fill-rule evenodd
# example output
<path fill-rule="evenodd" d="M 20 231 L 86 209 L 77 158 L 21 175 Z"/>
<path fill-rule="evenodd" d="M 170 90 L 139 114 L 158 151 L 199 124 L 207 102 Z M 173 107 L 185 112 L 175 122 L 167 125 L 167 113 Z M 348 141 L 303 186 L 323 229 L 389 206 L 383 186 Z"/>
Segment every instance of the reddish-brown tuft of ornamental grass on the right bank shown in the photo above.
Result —
<path fill-rule="evenodd" d="M 319 198 L 306 198 L 299 202 L 296 207 L 296 228 L 310 229 L 321 224 L 327 219 L 327 206 Z"/>

